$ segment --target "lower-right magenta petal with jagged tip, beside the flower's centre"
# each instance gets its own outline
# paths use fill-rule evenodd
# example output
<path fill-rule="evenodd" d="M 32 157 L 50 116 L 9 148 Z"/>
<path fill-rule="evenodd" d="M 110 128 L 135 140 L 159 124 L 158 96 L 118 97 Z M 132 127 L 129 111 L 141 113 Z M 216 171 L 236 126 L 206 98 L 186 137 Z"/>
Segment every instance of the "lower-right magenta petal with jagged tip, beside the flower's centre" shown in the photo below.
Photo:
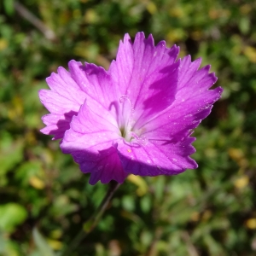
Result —
<path fill-rule="evenodd" d="M 195 153 L 191 146 L 194 140 L 186 137 L 178 143 L 154 140 L 141 144 L 119 143 L 119 157 L 125 172 L 141 176 L 175 175 L 197 167 L 189 157 Z"/>

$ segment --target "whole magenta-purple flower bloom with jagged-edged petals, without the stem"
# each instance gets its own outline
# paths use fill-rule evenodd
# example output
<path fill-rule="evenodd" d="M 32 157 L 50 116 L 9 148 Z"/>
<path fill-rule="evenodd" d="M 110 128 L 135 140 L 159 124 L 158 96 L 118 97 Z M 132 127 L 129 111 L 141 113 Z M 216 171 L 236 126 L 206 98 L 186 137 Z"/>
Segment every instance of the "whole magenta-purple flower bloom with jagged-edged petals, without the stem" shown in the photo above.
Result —
<path fill-rule="evenodd" d="M 61 138 L 90 184 L 123 183 L 130 173 L 174 175 L 197 167 L 189 155 L 192 130 L 211 113 L 222 92 L 209 88 L 217 80 L 201 59 L 177 60 L 178 47 L 128 34 L 120 42 L 109 70 L 78 61 L 48 79 L 39 97 L 49 114 L 44 134 Z"/>

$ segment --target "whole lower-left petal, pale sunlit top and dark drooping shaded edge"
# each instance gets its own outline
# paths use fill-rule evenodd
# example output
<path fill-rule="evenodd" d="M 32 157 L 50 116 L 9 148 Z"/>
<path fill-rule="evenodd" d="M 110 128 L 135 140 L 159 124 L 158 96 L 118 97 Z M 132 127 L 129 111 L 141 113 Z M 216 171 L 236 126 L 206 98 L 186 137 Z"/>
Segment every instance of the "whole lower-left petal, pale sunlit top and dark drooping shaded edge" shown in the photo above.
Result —
<path fill-rule="evenodd" d="M 127 173 L 119 160 L 116 144 L 120 140 L 119 129 L 105 108 L 91 109 L 84 103 L 78 116 L 74 116 L 70 129 L 61 142 L 63 153 L 72 154 L 82 172 L 90 172 L 90 184 L 97 181 L 123 183 Z M 97 112 L 95 112 L 97 111 Z"/>

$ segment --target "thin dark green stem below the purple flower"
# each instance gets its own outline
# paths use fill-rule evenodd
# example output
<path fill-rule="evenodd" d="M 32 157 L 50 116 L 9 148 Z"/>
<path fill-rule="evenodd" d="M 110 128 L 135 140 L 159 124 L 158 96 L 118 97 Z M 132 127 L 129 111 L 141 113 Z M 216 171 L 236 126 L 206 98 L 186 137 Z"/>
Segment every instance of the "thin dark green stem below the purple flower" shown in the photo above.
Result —
<path fill-rule="evenodd" d="M 108 192 L 102 200 L 102 203 L 97 208 L 96 212 L 84 223 L 83 229 L 80 230 L 79 234 L 75 236 L 73 241 L 71 242 L 70 246 L 67 247 L 67 250 L 61 253 L 61 256 L 69 256 L 73 252 L 73 249 L 78 247 L 79 243 L 84 240 L 84 238 L 90 234 L 92 230 L 96 227 L 99 223 L 100 219 L 102 218 L 102 214 L 106 211 L 109 202 L 111 201 L 114 192 L 116 189 L 119 188 L 119 183 L 116 181 L 111 181 L 109 183 Z"/>

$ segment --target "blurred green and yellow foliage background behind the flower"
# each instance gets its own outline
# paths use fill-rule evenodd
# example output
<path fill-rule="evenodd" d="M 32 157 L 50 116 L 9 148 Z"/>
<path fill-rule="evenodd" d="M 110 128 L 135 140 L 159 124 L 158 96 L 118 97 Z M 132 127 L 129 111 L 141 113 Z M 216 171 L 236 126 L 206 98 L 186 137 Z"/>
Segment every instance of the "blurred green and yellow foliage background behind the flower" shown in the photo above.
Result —
<path fill-rule="evenodd" d="M 211 63 L 224 95 L 195 131 L 199 168 L 129 177 L 72 255 L 255 255 L 255 1 L 20 3 L 0 2 L 0 255 L 60 255 L 100 204 L 107 185 L 40 134 L 38 90 L 71 59 L 108 68 L 138 31 Z"/>

